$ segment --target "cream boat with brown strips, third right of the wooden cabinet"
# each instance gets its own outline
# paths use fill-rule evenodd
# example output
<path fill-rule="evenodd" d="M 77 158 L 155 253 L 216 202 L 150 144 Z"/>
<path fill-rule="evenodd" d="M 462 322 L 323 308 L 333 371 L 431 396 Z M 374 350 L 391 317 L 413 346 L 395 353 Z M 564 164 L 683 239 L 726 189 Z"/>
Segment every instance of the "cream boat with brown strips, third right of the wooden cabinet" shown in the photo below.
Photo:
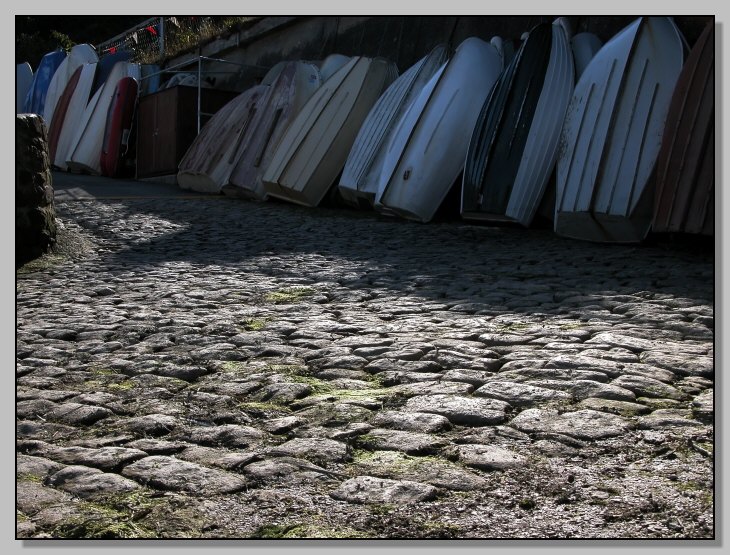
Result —
<path fill-rule="evenodd" d="M 368 112 L 396 75 L 388 60 L 356 56 L 325 81 L 279 143 L 264 173 L 266 192 L 317 206 L 342 171 Z"/>

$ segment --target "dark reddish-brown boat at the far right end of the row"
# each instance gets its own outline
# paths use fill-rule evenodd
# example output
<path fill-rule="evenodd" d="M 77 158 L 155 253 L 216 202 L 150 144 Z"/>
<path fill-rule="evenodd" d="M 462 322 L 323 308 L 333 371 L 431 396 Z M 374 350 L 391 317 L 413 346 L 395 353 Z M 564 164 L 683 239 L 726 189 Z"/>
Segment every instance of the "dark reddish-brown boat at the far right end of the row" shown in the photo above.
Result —
<path fill-rule="evenodd" d="M 715 28 L 710 22 L 677 80 L 657 158 L 655 232 L 714 235 Z"/>

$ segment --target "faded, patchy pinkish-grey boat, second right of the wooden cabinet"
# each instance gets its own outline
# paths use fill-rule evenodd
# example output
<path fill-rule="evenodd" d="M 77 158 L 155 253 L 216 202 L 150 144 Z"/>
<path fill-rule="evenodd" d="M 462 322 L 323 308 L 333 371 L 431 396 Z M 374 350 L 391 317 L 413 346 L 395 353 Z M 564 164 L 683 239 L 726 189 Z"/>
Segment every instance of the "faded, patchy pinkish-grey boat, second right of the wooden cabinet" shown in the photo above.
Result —
<path fill-rule="evenodd" d="M 236 160 L 223 188 L 226 194 L 265 200 L 263 174 L 289 123 L 322 85 L 319 68 L 307 62 L 286 62 L 256 102 L 255 119 L 239 140 Z"/>

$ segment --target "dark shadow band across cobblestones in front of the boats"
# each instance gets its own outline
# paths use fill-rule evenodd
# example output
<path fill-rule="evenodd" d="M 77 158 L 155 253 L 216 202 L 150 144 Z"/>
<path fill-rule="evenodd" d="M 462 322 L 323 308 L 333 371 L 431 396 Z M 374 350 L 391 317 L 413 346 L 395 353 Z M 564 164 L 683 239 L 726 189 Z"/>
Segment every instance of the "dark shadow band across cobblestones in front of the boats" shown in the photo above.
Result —
<path fill-rule="evenodd" d="M 562 300 L 570 297 L 583 297 L 579 304 L 590 313 L 604 296 L 637 294 L 713 304 L 713 253 L 706 246 L 594 244 L 547 229 L 456 219 L 419 224 L 284 202 L 211 195 L 191 200 L 178 196 L 176 186 L 165 187 L 169 194 L 162 198 L 99 198 L 106 215 L 79 211 L 74 217 L 115 243 L 104 259 L 110 272 L 185 262 L 227 267 L 245 279 L 253 269 L 300 282 L 459 301 L 477 314 L 505 308 L 561 314 Z"/>

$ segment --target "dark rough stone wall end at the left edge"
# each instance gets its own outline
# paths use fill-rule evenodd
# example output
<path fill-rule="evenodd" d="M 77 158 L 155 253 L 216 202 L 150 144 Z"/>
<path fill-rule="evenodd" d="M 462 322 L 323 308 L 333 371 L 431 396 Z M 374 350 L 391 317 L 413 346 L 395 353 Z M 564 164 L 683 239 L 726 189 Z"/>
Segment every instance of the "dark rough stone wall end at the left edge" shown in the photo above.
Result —
<path fill-rule="evenodd" d="M 35 114 L 15 118 L 15 265 L 39 257 L 56 242 L 56 212 L 48 134 Z"/>

